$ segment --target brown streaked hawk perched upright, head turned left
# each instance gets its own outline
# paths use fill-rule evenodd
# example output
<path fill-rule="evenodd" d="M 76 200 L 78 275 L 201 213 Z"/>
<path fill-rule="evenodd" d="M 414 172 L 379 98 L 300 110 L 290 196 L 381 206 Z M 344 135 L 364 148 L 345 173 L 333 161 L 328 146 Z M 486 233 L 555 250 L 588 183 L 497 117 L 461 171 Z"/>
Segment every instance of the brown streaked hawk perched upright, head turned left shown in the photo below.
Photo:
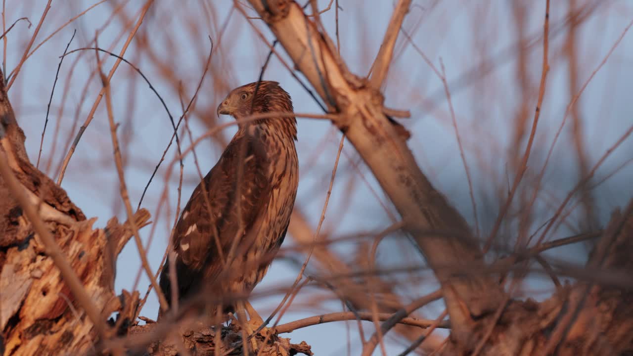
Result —
<path fill-rule="evenodd" d="M 217 111 L 236 120 L 248 119 L 251 112 L 292 113 L 292 101 L 279 83 L 254 82 L 231 91 Z M 171 284 L 168 262 L 160 276 L 170 305 L 172 288 L 178 288 L 179 300 L 184 301 L 204 286 L 213 286 L 210 293 L 226 297 L 248 294 L 261 281 L 284 241 L 297 194 L 296 139 L 294 116 L 239 124 L 176 225 L 173 252 L 178 286 Z M 233 306 L 219 307 L 227 312 Z"/>

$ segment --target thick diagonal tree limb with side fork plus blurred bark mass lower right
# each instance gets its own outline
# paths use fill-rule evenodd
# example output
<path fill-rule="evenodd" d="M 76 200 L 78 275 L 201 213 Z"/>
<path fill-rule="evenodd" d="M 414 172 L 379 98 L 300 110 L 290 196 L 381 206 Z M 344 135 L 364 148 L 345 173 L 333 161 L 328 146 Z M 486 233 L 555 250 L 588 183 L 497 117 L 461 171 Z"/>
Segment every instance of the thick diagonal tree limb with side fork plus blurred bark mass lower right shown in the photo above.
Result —
<path fill-rule="evenodd" d="M 630 355 L 633 353 L 633 202 L 616 213 L 600 236 L 585 269 L 558 264 L 556 273 L 579 282 L 544 302 L 512 300 L 487 272 L 479 243 L 461 215 L 418 168 L 406 143 L 385 115 L 379 92 L 394 32 L 410 1 L 394 15 L 369 79 L 349 72 L 318 16 L 291 0 L 249 0 L 280 44 L 328 106 L 401 214 L 404 230 L 441 282 L 451 319 L 444 355 Z M 237 6 L 237 5 L 236 5 Z M 316 12 L 315 8 L 312 8 Z M 515 264 L 512 269 L 522 267 Z M 494 271 L 498 272 L 498 271 Z M 364 350 L 370 355 L 372 350 Z"/>

